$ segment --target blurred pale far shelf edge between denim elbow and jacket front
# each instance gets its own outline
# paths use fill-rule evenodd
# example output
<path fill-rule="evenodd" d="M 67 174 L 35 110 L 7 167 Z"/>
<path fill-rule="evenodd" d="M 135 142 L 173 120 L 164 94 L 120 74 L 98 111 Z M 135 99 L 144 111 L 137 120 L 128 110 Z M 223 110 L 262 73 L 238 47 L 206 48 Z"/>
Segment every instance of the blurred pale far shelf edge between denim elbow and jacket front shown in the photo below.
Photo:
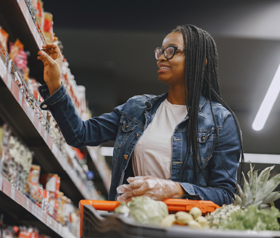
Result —
<path fill-rule="evenodd" d="M 97 153 L 100 149 L 100 147 L 92 147 L 92 146 L 86 146 L 87 150 L 88 150 L 88 153 L 95 165 L 95 168 L 97 170 L 97 172 L 99 173 L 101 179 L 102 179 L 102 182 L 103 182 L 103 185 L 107 191 L 107 193 L 109 194 L 109 190 L 110 190 L 110 186 L 111 186 L 111 170 L 109 169 L 106 161 L 105 161 L 105 158 L 103 160 L 100 160 L 99 157 L 98 157 L 98 154 Z"/>

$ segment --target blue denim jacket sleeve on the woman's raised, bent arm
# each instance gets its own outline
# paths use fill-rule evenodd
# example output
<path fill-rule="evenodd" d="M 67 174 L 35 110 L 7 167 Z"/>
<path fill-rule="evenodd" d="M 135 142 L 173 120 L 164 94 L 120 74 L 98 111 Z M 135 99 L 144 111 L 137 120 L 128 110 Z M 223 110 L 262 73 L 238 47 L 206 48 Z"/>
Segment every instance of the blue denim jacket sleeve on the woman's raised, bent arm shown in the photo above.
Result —
<path fill-rule="evenodd" d="M 44 98 L 40 108 L 51 111 L 67 144 L 81 148 L 115 140 L 124 104 L 114 108 L 111 113 L 83 121 L 63 84 L 52 95 L 46 84 L 39 87 L 39 93 Z"/>

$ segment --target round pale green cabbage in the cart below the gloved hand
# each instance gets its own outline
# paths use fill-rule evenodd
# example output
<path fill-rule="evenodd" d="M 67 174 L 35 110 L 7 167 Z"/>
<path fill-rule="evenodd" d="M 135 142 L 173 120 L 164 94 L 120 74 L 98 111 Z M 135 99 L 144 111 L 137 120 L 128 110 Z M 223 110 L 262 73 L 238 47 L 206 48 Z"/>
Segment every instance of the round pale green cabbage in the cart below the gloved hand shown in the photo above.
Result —
<path fill-rule="evenodd" d="M 129 215 L 143 225 L 160 226 L 162 220 L 168 216 L 167 205 L 150 197 L 133 197 L 127 206 L 130 209 Z"/>

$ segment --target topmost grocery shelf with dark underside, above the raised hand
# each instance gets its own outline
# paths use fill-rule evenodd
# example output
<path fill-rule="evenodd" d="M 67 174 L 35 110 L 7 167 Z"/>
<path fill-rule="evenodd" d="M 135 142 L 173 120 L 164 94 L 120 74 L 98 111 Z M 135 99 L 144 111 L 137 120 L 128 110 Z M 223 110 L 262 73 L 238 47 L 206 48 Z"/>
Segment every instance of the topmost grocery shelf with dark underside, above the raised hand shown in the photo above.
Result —
<path fill-rule="evenodd" d="M 37 53 L 47 41 L 36 22 L 37 18 L 28 0 L 1 0 L 0 25 L 5 26 L 10 37 L 19 38 L 24 49 L 30 51 L 30 75 L 44 84 L 44 65 L 37 59 Z"/>

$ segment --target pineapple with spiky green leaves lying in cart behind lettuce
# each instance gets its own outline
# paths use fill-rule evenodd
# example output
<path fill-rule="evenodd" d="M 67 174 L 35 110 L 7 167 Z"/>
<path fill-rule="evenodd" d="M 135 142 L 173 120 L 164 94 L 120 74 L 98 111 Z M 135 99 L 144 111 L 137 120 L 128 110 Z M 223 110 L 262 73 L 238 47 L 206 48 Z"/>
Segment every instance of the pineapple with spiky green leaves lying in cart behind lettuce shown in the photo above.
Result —
<path fill-rule="evenodd" d="M 210 227 L 214 229 L 219 228 L 222 220 L 228 219 L 232 212 L 244 209 L 249 205 L 256 205 L 259 209 L 268 207 L 268 203 L 274 205 L 273 202 L 280 198 L 279 191 L 273 192 L 280 184 L 280 174 L 269 180 L 270 171 L 273 168 L 274 166 L 264 169 L 258 176 L 258 170 L 253 171 L 254 167 L 252 167 L 250 162 L 250 171 L 248 172 L 249 182 L 243 174 L 243 190 L 237 185 L 239 195 L 234 194 L 233 203 L 223 205 L 206 217 Z"/>

